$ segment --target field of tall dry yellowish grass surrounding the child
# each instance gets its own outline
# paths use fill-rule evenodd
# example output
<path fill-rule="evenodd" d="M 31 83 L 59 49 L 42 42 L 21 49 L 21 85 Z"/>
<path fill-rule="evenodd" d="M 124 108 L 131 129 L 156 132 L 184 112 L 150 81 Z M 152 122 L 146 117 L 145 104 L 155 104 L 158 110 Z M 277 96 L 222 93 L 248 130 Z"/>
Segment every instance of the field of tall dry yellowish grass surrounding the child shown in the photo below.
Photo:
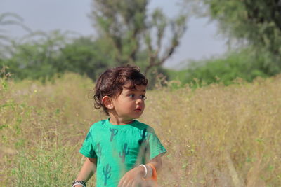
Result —
<path fill-rule="evenodd" d="M 148 91 L 140 119 L 168 150 L 159 186 L 281 186 L 281 76 L 196 90 L 174 84 Z M 105 118 L 92 89 L 75 74 L 44 85 L 1 78 L 1 186 L 70 186 L 86 132 Z"/>

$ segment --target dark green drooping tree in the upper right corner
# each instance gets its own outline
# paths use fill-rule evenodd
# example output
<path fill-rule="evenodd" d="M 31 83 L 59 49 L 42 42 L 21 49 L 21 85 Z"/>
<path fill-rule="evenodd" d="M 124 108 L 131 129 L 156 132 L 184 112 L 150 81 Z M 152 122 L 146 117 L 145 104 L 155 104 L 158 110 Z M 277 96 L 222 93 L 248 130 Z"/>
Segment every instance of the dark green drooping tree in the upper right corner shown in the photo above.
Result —
<path fill-rule="evenodd" d="M 221 30 L 263 55 L 263 70 L 277 74 L 281 69 L 281 1 L 202 0 Z"/>

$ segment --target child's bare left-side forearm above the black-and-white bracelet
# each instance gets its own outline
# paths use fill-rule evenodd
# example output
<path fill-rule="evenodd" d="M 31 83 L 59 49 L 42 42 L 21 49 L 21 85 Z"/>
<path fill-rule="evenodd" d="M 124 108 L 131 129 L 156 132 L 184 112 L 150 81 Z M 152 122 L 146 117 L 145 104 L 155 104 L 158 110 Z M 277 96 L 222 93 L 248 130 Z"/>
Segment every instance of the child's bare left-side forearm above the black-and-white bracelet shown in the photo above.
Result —
<path fill-rule="evenodd" d="M 85 182 L 88 181 L 96 172 L 96 162 L 96 158 L 86 158 L 76 180 Z"/>

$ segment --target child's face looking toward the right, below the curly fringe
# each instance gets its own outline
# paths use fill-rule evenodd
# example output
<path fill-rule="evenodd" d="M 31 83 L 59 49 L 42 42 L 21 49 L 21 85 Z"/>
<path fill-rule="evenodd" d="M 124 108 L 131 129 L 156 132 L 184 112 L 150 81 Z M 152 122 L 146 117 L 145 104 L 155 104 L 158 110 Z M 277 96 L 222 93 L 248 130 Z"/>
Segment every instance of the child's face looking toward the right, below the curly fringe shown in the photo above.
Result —
<path fill-rule="evenodd" d="M 136 85 L 135 89 L 129 89 L 129 84 L 124 85 L 121 94 L 112 98 L 114 117 L 124 122 L 141 117 L 145 109 L 145 89 L 145 85 Z"/>

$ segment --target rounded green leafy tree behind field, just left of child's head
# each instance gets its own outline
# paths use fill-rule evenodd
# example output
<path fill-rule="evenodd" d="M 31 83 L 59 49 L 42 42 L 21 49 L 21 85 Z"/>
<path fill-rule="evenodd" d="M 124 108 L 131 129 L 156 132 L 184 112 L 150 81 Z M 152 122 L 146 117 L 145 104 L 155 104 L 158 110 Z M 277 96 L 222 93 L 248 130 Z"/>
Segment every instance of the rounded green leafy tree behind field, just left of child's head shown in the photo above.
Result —
<path fill-rule="evenodd" d="M 114 64 L 110 46 L 104 39 L 80 37 L 60 49 L 60 57 L 55 67 L 59 72 L 72 71 L 86 74 L 96 80 L 102 71 Z"/>

